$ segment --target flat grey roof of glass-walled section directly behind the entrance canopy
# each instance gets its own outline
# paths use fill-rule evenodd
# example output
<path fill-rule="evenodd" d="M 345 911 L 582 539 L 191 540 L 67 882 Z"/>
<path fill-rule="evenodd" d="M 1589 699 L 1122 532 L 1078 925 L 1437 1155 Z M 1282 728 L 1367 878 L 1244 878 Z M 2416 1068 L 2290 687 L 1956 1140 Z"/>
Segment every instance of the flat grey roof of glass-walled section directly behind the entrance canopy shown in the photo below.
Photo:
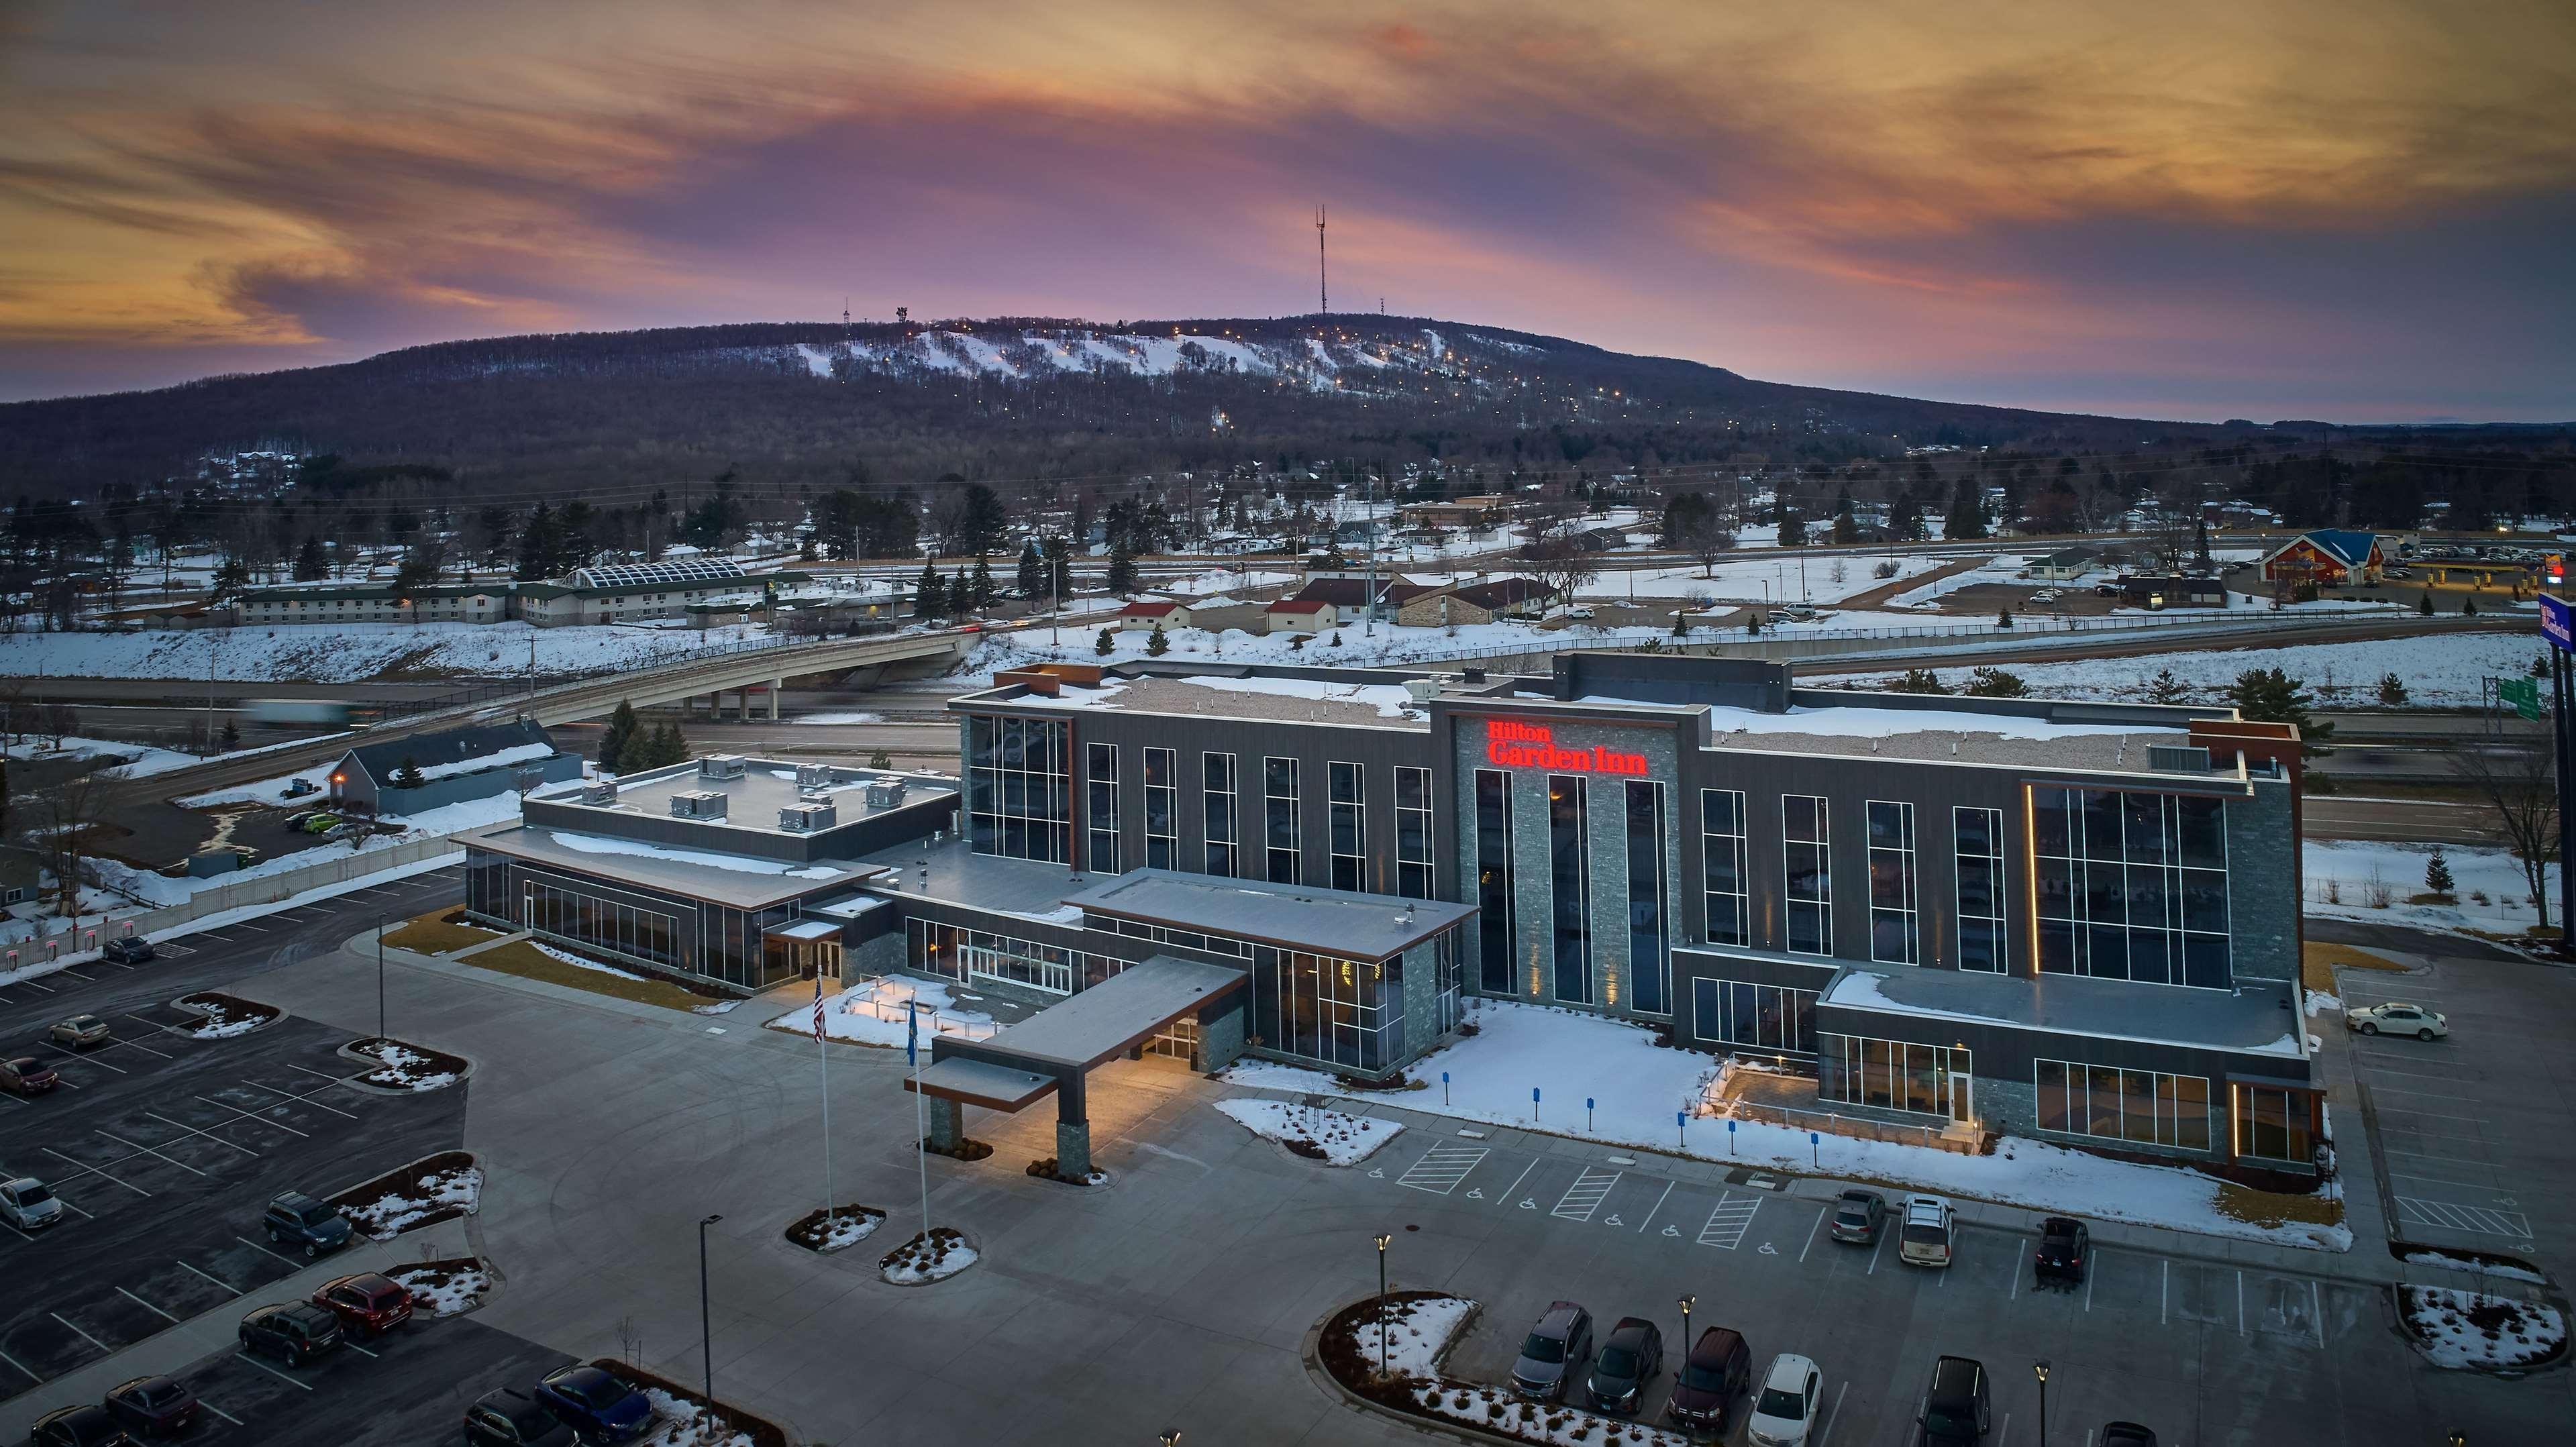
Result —
<path fill-rule="evenodd" d="M 1180 870 L 1133 870 L 1066 896 L 1087 911 L 1170 924 L 1195 935 L 1260 940 L 1345 960 L 1386 960 L 1471 919 L 1473 904 L 1396 899 L 1303 883 L 1265 883 Z"/>

